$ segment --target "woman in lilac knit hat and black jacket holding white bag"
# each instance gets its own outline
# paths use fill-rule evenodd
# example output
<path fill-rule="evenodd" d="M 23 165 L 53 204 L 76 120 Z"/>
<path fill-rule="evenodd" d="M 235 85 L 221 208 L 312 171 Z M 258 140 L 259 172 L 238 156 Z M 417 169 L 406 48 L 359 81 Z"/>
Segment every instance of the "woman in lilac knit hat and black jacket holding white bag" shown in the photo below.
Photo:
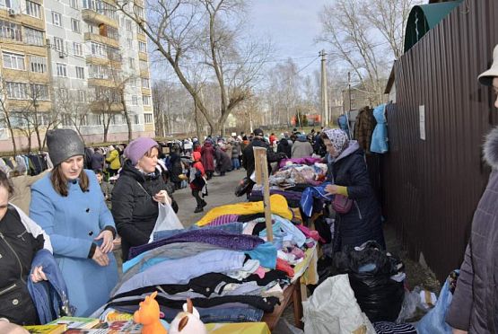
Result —
<path fill-rule="evenodd" d="M 130 247 L 149 242 L 159 215 L 158 203 L 170 203 L 167 186 L 156 169 L 159 145 L 139 137 L 125 149 L 127 160 L 112 190 L 112 215 L 121 236 L 123 260 Z"/>

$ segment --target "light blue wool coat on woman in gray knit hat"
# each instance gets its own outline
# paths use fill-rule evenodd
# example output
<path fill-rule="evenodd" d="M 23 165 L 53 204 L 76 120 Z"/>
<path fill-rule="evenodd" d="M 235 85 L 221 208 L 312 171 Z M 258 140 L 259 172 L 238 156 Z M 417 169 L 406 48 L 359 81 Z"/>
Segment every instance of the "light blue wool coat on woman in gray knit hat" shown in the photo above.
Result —
<path fill-rule="evenodd" d="M 30 216 L 50 236 L 76 316 L 89 316 L 106 303 L 118 282 L 112 252 L 107 267 L 88 259 L 93 239 L 104 227 L 115 225 L 94 172 L 84 171 L 90 180 L 87 192 L 78 183 L 69 182 L 68 195 L 62 197 L 52 187 L 51 172 L 31 186 Z"/>

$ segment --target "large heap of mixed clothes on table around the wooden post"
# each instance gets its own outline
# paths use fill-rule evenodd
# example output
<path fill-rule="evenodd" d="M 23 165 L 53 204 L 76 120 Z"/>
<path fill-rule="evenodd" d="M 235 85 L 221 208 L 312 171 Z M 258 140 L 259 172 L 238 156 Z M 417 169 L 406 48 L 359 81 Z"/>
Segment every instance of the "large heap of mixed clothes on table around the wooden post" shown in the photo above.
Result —
<path fill-rule="evenodd" d="M 187 298 L 204 322 L 261 321 L 280 303 L 296 278 L 294 266 L 319 239 L 291 222 L 297 218 L 284 197 L 270 201 L 273 242 L 266 242 L 262 202 L 215 207 L 188 229 L 154 233 L 153 242 L 130 250 L 109 303 L 94 315 L 133 313 L 144 295 L 158 291 L 165 321 Z"/>

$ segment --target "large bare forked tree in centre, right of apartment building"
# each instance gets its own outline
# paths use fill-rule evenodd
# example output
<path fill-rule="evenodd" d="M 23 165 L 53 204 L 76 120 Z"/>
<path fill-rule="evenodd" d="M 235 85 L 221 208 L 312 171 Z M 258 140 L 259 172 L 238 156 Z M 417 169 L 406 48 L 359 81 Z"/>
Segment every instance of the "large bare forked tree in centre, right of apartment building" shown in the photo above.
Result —
<path fill-rule="evenodd" d="M 149 0 L 144 9 L 114 0 L 138 24 L 192 96 L 210 132 L 218 133 L 232 110 L 248 98 L 270 55 L 269 43 L 242 35 L 244 0 Z M 196 75 L 192 75 L 192 71 Z M 213 117 L 197 90 L 197 75 L 213 78 L 220 106 Z"/>

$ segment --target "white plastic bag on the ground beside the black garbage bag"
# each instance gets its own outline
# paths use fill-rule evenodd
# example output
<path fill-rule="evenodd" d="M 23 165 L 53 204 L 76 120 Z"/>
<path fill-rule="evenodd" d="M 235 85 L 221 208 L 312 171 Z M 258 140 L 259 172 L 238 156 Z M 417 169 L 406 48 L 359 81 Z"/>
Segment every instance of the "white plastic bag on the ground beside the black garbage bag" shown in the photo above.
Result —
<path fill-rule="evenodd" d="M 305 334 L 375 334 L 347 275 L 328 277 L 302 302 Z"/>

